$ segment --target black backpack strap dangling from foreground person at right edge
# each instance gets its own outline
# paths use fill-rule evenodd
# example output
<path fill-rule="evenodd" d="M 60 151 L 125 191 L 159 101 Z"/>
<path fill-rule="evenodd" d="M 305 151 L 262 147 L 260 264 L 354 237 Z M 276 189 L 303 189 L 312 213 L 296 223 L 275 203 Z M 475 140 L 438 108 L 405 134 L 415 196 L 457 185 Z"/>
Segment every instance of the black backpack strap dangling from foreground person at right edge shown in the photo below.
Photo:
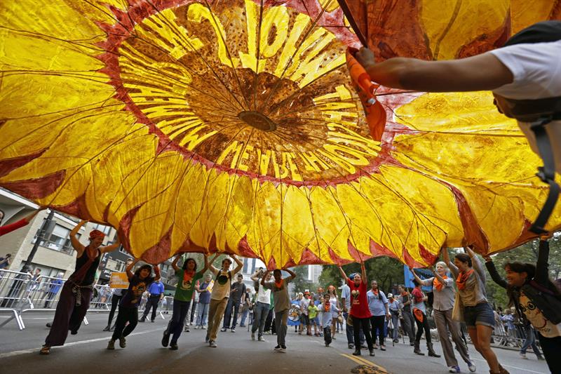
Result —
<path fill-rule="evenodd" d="M 548 232 L 544 227 L 551 213 L 553 213 L 560 193 L 560 187 L 555 183 L 555 159 L 553 157 L 553 149 L 551 148 L 551 142 L 545 128 L 546 124 L 556 119 L 556 117 L 557 116 L 548 116 L 530 124 L 530 129 L 534 132 L 534 135 L 536 135 L 536 145 L 543 161 L 543 166 L 538 168 L 538 173 L 536 173 L 536 175 L 542 182 L 549 185 L 548 198 L 546 202 L 543 203 L 538 218 L 536 218 L 532 227 L 529 228 L 529 231 L 534 232 L 534 234 L 546 234 Z"/>

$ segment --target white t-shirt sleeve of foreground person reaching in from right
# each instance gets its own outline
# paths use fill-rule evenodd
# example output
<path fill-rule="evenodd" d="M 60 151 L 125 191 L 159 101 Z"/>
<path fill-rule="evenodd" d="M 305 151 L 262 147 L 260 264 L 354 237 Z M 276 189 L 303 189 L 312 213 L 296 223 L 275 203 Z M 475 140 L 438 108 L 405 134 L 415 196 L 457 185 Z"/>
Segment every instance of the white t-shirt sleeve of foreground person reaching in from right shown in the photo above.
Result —
<path fill-rule="evenodd" d="M 513 73 L 514 81 L 493 90 L 514 100 L 561 96 L 561 40 L 515 44 L 489 51 Z"/>

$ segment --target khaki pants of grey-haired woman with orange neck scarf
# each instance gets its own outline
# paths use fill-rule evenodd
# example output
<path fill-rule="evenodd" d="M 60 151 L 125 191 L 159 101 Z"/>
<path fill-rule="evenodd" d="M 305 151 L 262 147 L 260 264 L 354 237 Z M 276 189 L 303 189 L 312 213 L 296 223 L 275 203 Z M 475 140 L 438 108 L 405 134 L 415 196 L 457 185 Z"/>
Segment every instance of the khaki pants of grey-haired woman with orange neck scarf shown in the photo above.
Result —
<path fill-rule="evenodd" d="M 456 349 L 466 363 L 470 362 L 468 348 L 461 339 L 460 334 L 460 324 L 458 321 L 452 319 L 452 309 L 448 310 L 434 310 L 434 321 L 436 323 L 436 329 L 438 330 L 438 338 L 440 338 L 440 345 L 442 345 L 442 352 L 444 353 L 444 358 L 446 360 L 447 366 L 458 366 L 458 360 L 454 355 L 454 349 L 452 349 L 452 342 L 448 338 L 448 330 L 452 334 L 452 340 L 456 343 Z"/>

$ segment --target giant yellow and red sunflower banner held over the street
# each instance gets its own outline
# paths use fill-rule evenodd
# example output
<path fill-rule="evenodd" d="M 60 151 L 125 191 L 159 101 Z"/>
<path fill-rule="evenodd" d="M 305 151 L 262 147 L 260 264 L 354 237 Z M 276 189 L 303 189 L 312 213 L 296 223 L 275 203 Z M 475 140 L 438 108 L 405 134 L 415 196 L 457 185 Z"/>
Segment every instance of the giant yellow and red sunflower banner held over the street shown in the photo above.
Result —
<path fill-rule="evenodd" d="M 480 53 L 561 8 L 349 4 L 381 59 Z M 220 251 L 270 267 L 422 266 L 442 246 L 530 239 L 547 187 L 491 94 L 381 87 L 375 141 L 347 46 L 358 39 L 336 0 L 4 0 L 0 186 L 113 225 L 152 263 Z"/>

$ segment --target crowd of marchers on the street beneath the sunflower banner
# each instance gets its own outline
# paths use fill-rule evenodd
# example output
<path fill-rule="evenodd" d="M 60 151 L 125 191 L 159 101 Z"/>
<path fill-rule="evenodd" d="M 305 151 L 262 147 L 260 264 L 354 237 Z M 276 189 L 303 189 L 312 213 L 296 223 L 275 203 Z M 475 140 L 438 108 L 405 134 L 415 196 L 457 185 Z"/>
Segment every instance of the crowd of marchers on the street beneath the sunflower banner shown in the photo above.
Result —
<path fill-rule="evenodd" d="M 98 230 L 90 232 L 88 246 L 83 246 L 76 233 L 85 223 L 81 221 L 70 233 L 72 246 L 77 252 L 76 268 L 60 289 L 55 317 L 49 324 L 50 332 L 41 354 L 50 354 L 50 347 L 64 345 L 69 331 L 78 333 L 92 300 L 95 271 L 102 253 L 114 251 L 119 246 L 119 242 L 101 246 L 104 234 Z M 393 343 L 398 342 L 399 331 L 402 331 L 403 337 L 407 335 L 409 338 L 413 353 L 424 356 L 421 349 L 424 335 L 428 356 L 438 358 L 440 355 L 433 349 L 428 324 L 428 296 L 421 289 L 422 286 L 432 286 L 432 316 L 450 373 L 460 372 L 452 342 L 468 370 L 476 370 L 460 321 L 465 323 L 475 349 L 489 364 L 490 373 L 508 373 L 497 360 L 491 340 L 496 321 L 500 320 L 506 324 L 507 330 L 511 330 L 514 315 L 527 329 L 527 340 L 520 354 L 526 358 L 526 349 L 532 346 L 534 353 L 541 358 L 536 341 L 532 339 L 533 327 L 551 372 L 561 373 L 561 358 L 558 355 L 561 352 L 561 296 L 558 284 L 548 278 L 548 241 L 540 241 L 536 265 L 507 263 L 504 268 L 506 279 L 501 277 L 492 259 L 485 256 L 487 271 L 493 281 L 506 289 L 513 305 L 513 309 L 507 309 L 503 316 L 496 314 L 487 300 L 486 273 L 478 256 L 470 247 L 466 247 L 465 251 L 451 260 L 447 250 L 443 250 L 444 261 L 437 262 L 435 268 L 428 267 L 433 273 L 428 279 L 421 279 L 411 269 L 415 287 L 409 291 L 405 286 L 399 286 L 398 295 L 386 295 L 378 288 L 377 281 L 369 282 L 362 263 L 362 271 L 355 274 L 347 275 L 339 267 L 344 280 L 340 295 L 337 295 L 337 287 L 330 285 L 327 292 L 323 292 L 323 288 L 318 288 L 315 294 L 306 290 L 292 300 L 288 285 L 296 274 L 290 269 L 274 269 L 273 272 L 257 270 L 251 276 L 255 288 L 252 292 L 243 283 L 243 276 L 238 274 L 242 263 L 236 256 L 224 258 L 222 266 L 217 268 L 212 264 L 218 254 L 210 259 L 205 255 L 203 269 L 198 269 L 193 258 L 187 258 L 179 266 L 181 256 L 177 255 L 172 264 L 177 277 L 173 312 L 163 331 L 161 344 L 178 349 L 180 335 L 189 330 L 196 315 L 195 328 L 205 329 L 205 341 L 209 347 L 217 347 L 219 332 L 236 331 L 241 308 L 241 326 L 245 326 L 245 320 L 250 316 L 250 339 L 262 341 L 264 334 L 275 334 L 277 345 L 274 349 L 279 352 L 287 349 L 286 335 L 290 323 L 298 334 L 312 335 L 313 331 L 313 335 L 322 336 L 326 347 L 344 329 L 348 347 L 354 349 L 353 354 L 357 356 L 362 349 L 367 349 L 370 356 L 375 355 L 374 349 L 386 351 L 387 330 L 390 330 Z M 109 320 L 104 328 L 112 332 L 107 349 L 115 349 L 117 341 L 119 347 L 126 347 L 126 337 L 139 321 L 139 305 L 144 293 L 148 293 L 148 298 L 141 322 L 146 321 L 150 309 L 151 321 L 154 321 L 156 308 L 162 299 L 163 286 L 159 281 L 158 265 L 141 265 L 134 269 L 138 261 L 130 260 L 126 265 L 128 288 L 116 290 L 111 296 Z M 206 273 L 207 270 L 210 273 Z M 288 276 L 283 277 L 283 272 Z M 196 313 L 195 297 L 198 300 Z M 115 312 L 116 322 L 111 326 Z"/>

